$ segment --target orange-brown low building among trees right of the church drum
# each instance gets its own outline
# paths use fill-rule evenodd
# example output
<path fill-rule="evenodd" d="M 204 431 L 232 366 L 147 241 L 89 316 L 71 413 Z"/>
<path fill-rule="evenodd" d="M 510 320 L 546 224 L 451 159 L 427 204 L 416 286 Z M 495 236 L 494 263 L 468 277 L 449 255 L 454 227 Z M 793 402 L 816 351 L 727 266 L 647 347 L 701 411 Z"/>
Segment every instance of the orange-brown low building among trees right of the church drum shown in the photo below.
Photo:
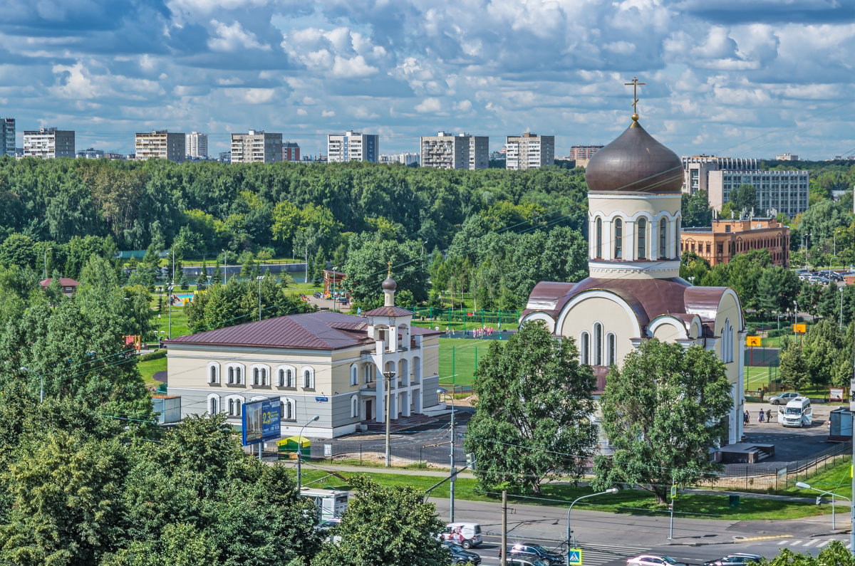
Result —
<path fill-rule="evenodd" d="M 772 262 L 790 264 L 790 228 L 774 218 L 714 219 L 712 226 L 683 228 L 681 251 L 693 251 L 711 266 L 728 263 L 736 254 L 769 250 Z"/>

